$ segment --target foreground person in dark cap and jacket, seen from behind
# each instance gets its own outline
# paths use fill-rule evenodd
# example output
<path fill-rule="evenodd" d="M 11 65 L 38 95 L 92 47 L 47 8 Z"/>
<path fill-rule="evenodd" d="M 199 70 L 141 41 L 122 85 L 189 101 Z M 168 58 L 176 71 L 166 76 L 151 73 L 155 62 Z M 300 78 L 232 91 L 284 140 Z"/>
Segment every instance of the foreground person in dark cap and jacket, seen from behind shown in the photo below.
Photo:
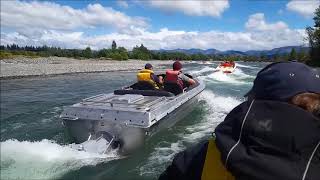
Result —
<path fill-rule="evenodd" d="M 247 97 L 213 139 L 178 153 L 159 179 L 319 180 L 320 72 L 270 64 Z"/>

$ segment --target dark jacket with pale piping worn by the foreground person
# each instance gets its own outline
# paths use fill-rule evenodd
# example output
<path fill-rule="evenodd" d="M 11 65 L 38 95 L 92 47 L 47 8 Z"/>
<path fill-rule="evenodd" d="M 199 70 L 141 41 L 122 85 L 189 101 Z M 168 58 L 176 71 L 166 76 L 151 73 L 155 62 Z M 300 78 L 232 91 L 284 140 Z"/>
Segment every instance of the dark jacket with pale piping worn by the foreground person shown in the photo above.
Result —
<path fill-rule="evenodd" d="M 235 179 L 320 179 L 320 120 L 299 107 L 244 102 L 218 125 L 215 135 L 221 163 Z M 207 146 L 200 143 L 176 155 L 160 179 L 201 179 Z"/>

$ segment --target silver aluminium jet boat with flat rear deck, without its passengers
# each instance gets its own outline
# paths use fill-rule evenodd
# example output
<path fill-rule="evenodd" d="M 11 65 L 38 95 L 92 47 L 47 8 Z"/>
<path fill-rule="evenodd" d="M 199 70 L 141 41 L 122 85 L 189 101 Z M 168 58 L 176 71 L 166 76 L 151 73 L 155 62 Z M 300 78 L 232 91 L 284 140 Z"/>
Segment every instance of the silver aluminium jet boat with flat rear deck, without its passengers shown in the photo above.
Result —
<path fill-rule="evenodd" d="M 196 85 L 178 95 L 137 90 L 132 85 L 64 107 L 60 118 L 77 143 L 72 148 L 98 153 L 112 149 L 121 154 L 133 152 L 147 137 L 174 125 L 192 110 L 196 96 L 205 88 L 203 81 L 194 80 Z"/>

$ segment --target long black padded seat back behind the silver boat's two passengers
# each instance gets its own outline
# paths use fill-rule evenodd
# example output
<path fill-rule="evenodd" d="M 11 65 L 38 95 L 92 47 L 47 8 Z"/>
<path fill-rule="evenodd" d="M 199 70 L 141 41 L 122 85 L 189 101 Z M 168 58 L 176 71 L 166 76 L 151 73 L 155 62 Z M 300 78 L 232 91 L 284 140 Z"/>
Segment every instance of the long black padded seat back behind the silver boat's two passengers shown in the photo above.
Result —
<path fill-rule="evenodd" d="M 172 97 L 174 94 L 167 92 L 167 91 L 162 91 L 162 90 L 126 90 L 126 89 L 120 89 L 120 90 L 115 90 L 113 92 L 116 95 L 125 95 L 125 94 L 140 94 L 143 96 L 165 96 L 165 97 Z"/>

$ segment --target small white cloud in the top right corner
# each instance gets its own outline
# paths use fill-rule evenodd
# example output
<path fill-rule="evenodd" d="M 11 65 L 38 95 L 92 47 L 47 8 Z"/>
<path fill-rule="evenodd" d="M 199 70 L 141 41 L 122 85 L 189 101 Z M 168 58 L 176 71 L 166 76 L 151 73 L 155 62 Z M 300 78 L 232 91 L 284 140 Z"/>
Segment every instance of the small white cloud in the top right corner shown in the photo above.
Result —
<path fill-rule="evenodd" d="M 287 9 L 305 17 L 313 17 L 319 6 L 319 0 L 292 0 L 287 4 Z"/>

